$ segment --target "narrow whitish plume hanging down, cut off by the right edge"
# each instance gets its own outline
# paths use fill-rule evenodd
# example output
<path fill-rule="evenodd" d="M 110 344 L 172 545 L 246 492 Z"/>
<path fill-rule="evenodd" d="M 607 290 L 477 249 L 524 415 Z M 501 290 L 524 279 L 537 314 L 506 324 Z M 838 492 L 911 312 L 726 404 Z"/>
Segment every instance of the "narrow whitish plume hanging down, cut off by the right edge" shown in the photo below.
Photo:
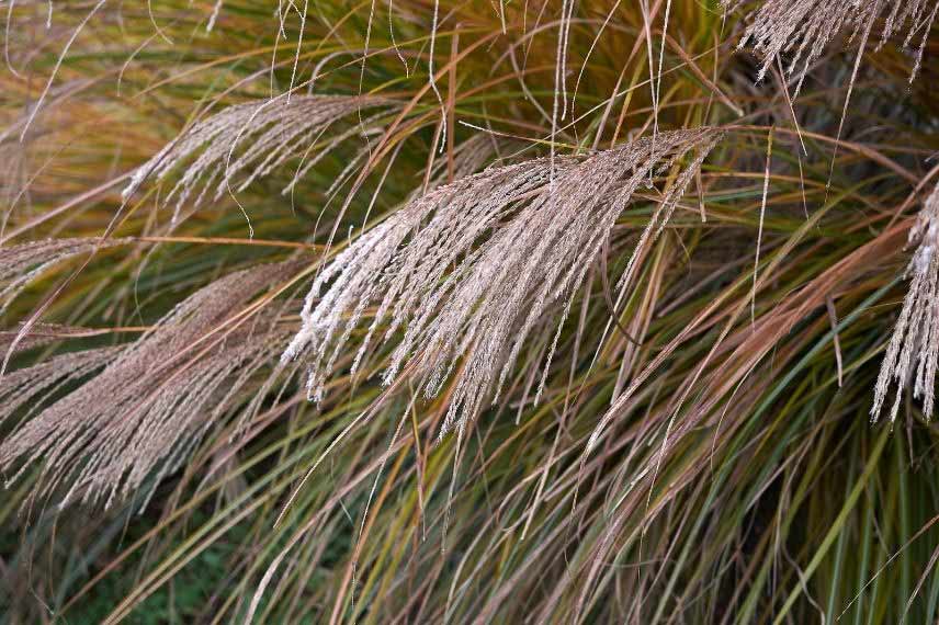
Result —
<path fill-rule="evenodd" d="M 939 367 L 939 186 L 926 201 L 909 242 L 918 243 L 906 269 L 909 291 L 893 330 L 874 390 L 871 418 L 876 420 L 891 386 L 896 383 L 896 398 L 890 419 L 896 419 L 903 389 L 914 378 L 913 396 L 923 399 L 923 412 L 932 416 L 936 368 Z"/>

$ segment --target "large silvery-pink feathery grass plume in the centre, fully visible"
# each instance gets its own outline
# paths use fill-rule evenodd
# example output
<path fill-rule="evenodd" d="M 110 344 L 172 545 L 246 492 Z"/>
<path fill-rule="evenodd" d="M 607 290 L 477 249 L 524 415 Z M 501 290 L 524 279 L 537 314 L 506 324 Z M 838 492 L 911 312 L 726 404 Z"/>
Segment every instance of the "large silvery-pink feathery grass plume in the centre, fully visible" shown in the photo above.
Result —
<path fill-rule="evenodd" d="M 283 359 L 309 360 L 308 393 L 320 399 L 352 331 L 376 305 L 352 373 L 376 332 L 388 341 L 400 329 L 384 383 L 407 370 L 433 397 L 459 370 L 440 434 L 462 429 L 498 397 L 525 339 L 561 305 L 546 375 L 573 295 L 634 193 L 654 175 L 672 174 L 642 243 L 665 227 L 720 138 L 710 128 L 679 130 L 585 158 L 491 168 L 412 201 L 316 277 Z M 621 280 L 635 261 L 634 253 Z"/>

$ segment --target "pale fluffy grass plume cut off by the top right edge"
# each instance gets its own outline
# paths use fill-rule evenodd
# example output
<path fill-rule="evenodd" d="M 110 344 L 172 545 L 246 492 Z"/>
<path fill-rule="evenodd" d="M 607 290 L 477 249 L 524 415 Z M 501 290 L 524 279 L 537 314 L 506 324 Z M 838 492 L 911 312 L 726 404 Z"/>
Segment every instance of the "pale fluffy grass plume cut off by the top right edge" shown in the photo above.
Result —
<path fill-rule="evenodd" d="M 722 0 L 722 3 L 732 11 L 748 1 Z M 810 66 L 833 38 L 847 32 L 852 43 L 860 44 L 867 39 L 874 21 L 883 18 L 880 45 L 895 34 L 903 34 L 904 47 L 916 47 L 912 79 L 919 70 L 937 10 L 936 0 L 766 0 L 750 15 L 739 45 L 751 44 L 763 57 L 760 80 L 777 58 L 788 59 L 787 73 L 795 73 L 801 87 Z"/>

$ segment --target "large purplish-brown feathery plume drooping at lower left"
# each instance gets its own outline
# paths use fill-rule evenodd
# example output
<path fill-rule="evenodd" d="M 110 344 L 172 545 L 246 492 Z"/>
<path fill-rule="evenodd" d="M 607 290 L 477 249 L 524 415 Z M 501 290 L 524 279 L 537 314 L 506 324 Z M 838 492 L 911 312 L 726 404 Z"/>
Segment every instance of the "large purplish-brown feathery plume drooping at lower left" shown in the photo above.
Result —
<path fill-rule="evenodd" d="M 75 382 L 113 359 L 7 438 L 0 470 L 26 461 L 22 473 L 42 459 L 35 493 L 68 482 L 64 503 L 76 492 L 83 501 L 110 503 L 174 470 L 240 399 L 238 389 L 286 344 L 290 334 L 273 318 L 224 323 L 293 266 L 265 264 L 222 277 L 120 353 L 66 354 L 0 379 L 3 421 L 23 406 L 43 405 L 53 383 Z"/>

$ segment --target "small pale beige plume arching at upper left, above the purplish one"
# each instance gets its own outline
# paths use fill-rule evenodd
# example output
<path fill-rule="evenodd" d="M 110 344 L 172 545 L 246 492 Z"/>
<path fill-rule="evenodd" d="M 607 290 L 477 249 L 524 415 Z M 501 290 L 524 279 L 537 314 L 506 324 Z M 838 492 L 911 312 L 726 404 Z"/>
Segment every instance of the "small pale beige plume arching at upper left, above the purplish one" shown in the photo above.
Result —
<path fill-rule="evenodd" d="M 289 193 L 342 141 L 374 132 L 382 117 L 398 109 L 392 100 L 367 95 L 298 95 L 229 106 L 184 132 L 140 166 L 124 189 L 124 197 L 135 193 L 146 179 L 163 180 L 189 163 L 165 197 L 168 204 L 176 200 L 179 213 L 193 193 L 196 195 L 192 205 L 200 204 L 210 193 L 218 200 L 226 191 L 242 191 L 299 157 L 301 164 L 283 190 Z M 347 118 L 349 122 L 342 124 Z M 353 163 L 363 154 L 367 149 Z"/>

